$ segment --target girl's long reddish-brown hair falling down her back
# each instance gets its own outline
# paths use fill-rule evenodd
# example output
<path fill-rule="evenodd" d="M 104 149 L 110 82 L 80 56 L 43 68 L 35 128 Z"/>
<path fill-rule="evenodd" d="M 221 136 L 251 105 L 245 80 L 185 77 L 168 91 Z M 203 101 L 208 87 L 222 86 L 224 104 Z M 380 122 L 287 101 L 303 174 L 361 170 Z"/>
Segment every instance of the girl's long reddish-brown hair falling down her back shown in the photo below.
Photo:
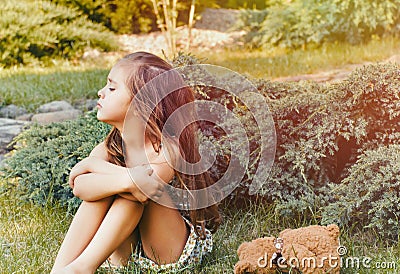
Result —
<path fill-rule="evenodd" d="M 197 115 L 194 105 L 190 104 L 195 100 L 194 92 L 184 84 L 182 76 L 173 70 L 173 67 L 169 63 L 147 52 L 129 54 L 121 59 L 118 65 L 122 65 L 128 69 L 129 74 L 126 79 L 126 86 L 131 91 L 132 98 L 136 96 L 132 107 L 136 110 L 137 114 L 148 113 L 149 106 L 153 106 L 152 102 L 158 102 L 154 106 L 154 109 L 151 110 L 150 115 L 142 117 L 143 121 L 147 124 L 145 137 L 151 140 L 154 150 L 159 153 L 163 133 L 163 145 L 167 145 L 168 143 L 174 144 L 175 147 L 179 148 L 182 158 L 188 163 L 193 164 L 200 161 L 201 157 L 197 136 L 199 124 L 196 119 Z M 163 74 L 163 86 L 151 84 L 155 77 L 167 71 L 168 73 Z M 165 89 L 168 89 L 168 86 L 178 86 L 180 88 L 168 92 L 168 95 L 163 97 L 163 92 L 165 92 Z M 145 92 L 141 90 L 142 88 L 144 88 Z M 166 121 L 170 118 L 171 114 L 184 105 L 184 115 L 182 111 L 174 113 L 172 123 L 168 121 L 168 125 L 166 125 Z M 186 111 L 188 106 L 190 111 Z M 191 108 L 190 106 L 193 107 Z M 163 129 L 164 131 L 162 131 Z M 176 138 L 176 136 L 179 136 L 179 138 Z M 114 127 L 110 131 L 105 143 L 109 161 L 120 166 L 125 166 L 122 137 L 117 128 Z M 214 183 L 208 172 L 197 175 L 192 174 L 194 173 L 181 173 L 175 169 L 176 178 L 179 180 L 176 186 L 196 190 L 206 188 Z M 188 213 L 192 223 L 195 224 L 196 233 L 202 237 L 205 237 L 205 226 L 215 231 L 221 222 L 217 205 L 190 210 Z M 198 226 L 202 229 L 199 229 Z"/>

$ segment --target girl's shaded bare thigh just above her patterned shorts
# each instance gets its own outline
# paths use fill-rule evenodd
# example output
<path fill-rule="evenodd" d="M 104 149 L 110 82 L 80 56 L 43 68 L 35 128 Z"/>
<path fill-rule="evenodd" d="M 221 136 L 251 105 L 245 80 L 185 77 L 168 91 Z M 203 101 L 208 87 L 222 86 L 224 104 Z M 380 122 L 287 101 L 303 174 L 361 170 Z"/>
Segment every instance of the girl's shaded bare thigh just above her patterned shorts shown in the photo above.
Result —
<path fill-rule="evenodd" d="M 139 230 L 144 253 L 158 264 L 177 261 L 189 236 L 178 210 L 153 201 L 145 207 Z"/>

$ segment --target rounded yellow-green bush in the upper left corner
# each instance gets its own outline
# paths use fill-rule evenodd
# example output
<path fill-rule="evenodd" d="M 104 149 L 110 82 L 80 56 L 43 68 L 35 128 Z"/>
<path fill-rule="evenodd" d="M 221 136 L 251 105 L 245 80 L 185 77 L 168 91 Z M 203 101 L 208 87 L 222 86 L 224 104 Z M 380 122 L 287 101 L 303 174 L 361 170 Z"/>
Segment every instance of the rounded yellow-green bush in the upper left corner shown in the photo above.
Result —
<path fill-rule="evenodd" d="M 113 35 L 74 9 L 46 1 L 5 0 L 0 16 L 1 66 L 73 58 L 88 48 L 116 48 Z"/>

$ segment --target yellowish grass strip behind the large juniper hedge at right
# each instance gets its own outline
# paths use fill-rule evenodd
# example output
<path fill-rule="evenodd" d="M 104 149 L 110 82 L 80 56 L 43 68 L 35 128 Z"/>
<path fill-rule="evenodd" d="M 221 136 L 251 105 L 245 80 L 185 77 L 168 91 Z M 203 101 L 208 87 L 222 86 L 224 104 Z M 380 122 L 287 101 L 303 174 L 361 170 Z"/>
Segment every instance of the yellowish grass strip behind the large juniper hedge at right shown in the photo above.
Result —
<path fill-rule="evenodd" d="M 366 44 L 325 44 L 319 48 L 286 51 L 284 49 L 246 50 L 245 48 L 193 53 L 206 63 L 223 66 L 255 78 L 316 73 L 349 64 L 378 62 L 398 54 L 400 39 L 387 37 Z"/>

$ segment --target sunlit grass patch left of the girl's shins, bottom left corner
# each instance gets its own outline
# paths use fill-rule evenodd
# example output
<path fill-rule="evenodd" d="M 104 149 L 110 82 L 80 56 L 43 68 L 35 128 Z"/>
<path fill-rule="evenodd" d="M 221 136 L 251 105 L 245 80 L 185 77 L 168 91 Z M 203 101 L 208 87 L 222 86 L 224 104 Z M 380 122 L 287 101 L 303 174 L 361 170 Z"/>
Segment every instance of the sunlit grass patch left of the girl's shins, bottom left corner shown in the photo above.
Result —
<path fill-rule="evenodd" d="M 70 216 L 0 195 L 1 273 L 49 273 Z"/>

